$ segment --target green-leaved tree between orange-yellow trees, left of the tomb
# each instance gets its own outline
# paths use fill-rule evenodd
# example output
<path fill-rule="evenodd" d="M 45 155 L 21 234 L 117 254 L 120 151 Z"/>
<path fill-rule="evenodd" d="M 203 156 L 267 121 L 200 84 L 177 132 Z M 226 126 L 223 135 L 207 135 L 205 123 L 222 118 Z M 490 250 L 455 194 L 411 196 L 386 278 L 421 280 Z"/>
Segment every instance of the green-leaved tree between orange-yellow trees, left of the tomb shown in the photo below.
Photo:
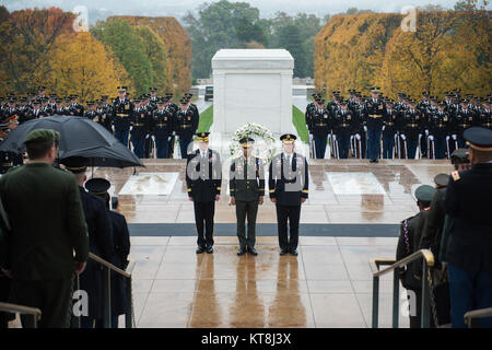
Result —
<path fill-rule="evenodd" d="M 145 43 L 137 28 L 125 20 L 110 19 L 98 22 L 91 28 L 91 33 L 107 45 L 119 59 L 133 82 L 136 94 L 148 93 L 154 84 L 152 63 Z"/>

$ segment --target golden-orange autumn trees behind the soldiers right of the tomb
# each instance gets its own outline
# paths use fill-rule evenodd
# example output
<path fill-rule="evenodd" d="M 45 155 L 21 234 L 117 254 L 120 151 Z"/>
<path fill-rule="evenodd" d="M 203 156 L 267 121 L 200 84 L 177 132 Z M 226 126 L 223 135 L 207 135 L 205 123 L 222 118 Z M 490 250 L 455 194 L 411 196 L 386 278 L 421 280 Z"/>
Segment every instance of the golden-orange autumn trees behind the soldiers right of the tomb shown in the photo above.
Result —
<path fill-rule="evenodd" d="M 418 11 L 417 32 L 400 28 L 403 15 L 371 13 L 330 19 L 315 43 L 316 88 L 368 92 L 378 85 L 395 97 L 443 95 L 461 89 L 485 96 L 492 90 L 489 13 Z"/>

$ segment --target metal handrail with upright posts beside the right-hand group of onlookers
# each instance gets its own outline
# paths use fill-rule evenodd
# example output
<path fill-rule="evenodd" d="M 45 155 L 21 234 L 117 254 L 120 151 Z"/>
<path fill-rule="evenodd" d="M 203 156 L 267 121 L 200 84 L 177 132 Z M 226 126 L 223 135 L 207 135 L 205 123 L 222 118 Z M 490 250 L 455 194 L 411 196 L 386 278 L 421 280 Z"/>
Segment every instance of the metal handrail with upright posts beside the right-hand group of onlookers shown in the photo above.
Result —
<path fill-rule="evenodd" d="M 400 279 L 398 268 L 406 267 L 410 262 L 422 259 L 422 305 L 421 305 L 421 327 L 430 326 L 430 285 L 427 283 L 427 267 L 434 266 L 434 255 L 429 249 L 420 249 L 401 260 L 395 261 L 389 259 L 372 259 L 370 260 L 371 270 L 373 272 L 373 328 L 378 327 L 378 307 L 379 307 L 379 277 L 389 272 L 394 272 L 393 277 L 393 327 L 398 328 L 399 316 L 399 288 Z M 387 268 L 379 270 L 379 266 L 389 265 Z"/>

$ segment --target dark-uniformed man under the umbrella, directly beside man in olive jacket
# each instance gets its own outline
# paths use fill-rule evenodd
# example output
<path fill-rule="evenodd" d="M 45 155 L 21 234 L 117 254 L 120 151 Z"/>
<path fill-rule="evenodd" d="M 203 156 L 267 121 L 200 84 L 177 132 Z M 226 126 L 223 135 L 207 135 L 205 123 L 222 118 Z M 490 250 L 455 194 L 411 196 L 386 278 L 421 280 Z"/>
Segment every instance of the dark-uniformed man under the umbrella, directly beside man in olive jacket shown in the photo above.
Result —
<path fill-rule="evenodd" d="M 113 226 L 104 201 L 89 194 L 84 188 L 87 179 L 85 172 L 87 159 L 71 156 L 61 161 L 66 168 L 75 175 L 79 183 L 80 198 L 89 231 L 89 250 L 106 261 L 112 261 L 114 255 Z M 80 275 L 79 289 L 86 291 L 89 296 L 89 315 L 81 316 L 82 328 L 94 328 L 96 320 L 103 317 L 103 269 L 90 259 L 85 271 Z M 75 319 L 72 325 L 75 326 Z"/>

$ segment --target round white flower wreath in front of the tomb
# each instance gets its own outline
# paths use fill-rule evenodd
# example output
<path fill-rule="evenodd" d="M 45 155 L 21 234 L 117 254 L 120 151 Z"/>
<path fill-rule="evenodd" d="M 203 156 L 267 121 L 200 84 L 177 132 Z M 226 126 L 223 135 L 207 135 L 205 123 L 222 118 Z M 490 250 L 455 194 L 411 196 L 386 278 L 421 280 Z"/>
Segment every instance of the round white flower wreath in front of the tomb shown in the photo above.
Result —
<path fill-rule="evenodd" d="M 245 124 L 237 129 L 229 145 L 230 154 L 233 158 L 242 154 L 242 147 L 239 144 L 242 138 L 255 139 L 254 155 L 260 158 L 263 162 L 267 162 L 267 164 L 270 163 L 277 151 L 277 142 L 273 133 L 269 129 L 256 122 Z"/>

